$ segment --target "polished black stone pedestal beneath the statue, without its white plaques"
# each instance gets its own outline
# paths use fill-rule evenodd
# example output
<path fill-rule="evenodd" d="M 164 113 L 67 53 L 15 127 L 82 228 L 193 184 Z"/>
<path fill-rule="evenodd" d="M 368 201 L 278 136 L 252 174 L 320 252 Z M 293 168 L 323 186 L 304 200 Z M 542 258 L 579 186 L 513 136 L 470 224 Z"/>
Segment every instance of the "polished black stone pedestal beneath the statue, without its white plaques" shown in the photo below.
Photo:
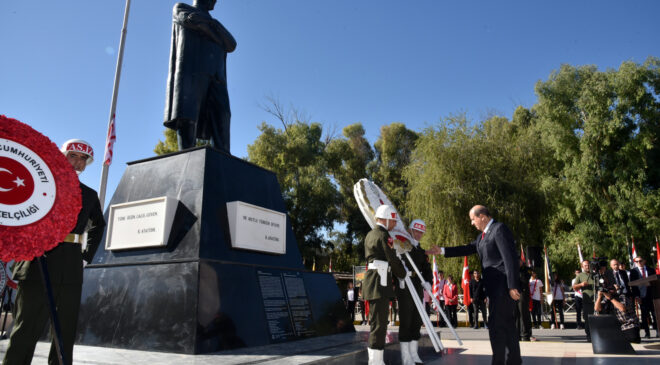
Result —
<path fill-rule="evenodd" d="M 110 205 L 162 196 L 179 200 L 166 247 L 100 248 L 85 269 L 79 343 L 193 354 L 354 331 L 288 220 L 286 254 L 231 247 L 227 202 L 286 213 L 275 174 L 191 149 L 130 163 Z"/>

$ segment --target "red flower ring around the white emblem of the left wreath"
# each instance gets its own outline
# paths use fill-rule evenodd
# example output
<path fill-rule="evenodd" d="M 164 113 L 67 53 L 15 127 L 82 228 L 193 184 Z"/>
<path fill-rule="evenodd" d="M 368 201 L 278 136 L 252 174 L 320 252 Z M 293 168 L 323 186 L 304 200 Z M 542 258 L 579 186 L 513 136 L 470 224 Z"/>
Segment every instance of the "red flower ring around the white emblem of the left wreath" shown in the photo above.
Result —
<path fill-rule="evenodd" d="M 80 182 L 57 145 L 27 124 L 0 115 L 0 138 L 39 155 L 55 180 L 55 201 L 47 215 L 24 226 L 0 224 L 0 260 L 32 260 L 57 246 L 75 227 L 82 206 Z"/>

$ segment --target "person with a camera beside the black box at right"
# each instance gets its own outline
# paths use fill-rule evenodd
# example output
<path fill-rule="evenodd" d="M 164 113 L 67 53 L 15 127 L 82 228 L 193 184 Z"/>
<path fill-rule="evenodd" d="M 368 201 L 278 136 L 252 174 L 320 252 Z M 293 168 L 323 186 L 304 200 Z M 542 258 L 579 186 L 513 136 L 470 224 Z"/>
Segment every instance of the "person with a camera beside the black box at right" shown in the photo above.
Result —
<path fill-rule="evenodd" d="M 619 273 L 619 262 L 610 261 L 612 270 L 606 270 L 606 262 L 602 261 L 598 267 L 597 298 L 594 310 L 598 314 L 613 314 L 621 325 L 624 337 L 633 343 L 640 343 L 639 321 L 635 315 L 632 297 L 627 293 L 630 288 L 623 282 L 623 275 Z"/>

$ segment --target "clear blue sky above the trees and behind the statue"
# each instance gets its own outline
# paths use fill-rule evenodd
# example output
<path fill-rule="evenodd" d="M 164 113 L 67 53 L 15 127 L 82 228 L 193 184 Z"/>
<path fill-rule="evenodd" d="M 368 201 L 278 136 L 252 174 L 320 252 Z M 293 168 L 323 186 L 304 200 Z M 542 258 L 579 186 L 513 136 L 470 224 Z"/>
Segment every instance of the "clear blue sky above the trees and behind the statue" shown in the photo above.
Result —
<path fill-rule="evenodd" d="M 189 1 L 191 3 L 192 0 Z M 176 1 L 133 0 L 107 199 L 125 163 L 154 155 Z M 124 0 L 0 0 L 0 114 L 58 145 L 91 142 L 81 175 L 98 189 Z M 618 68 L 660 56 L 660 1 L 221 0 L 212 15 L 238 41 L 227 73 L 231 152 L 278 98 L 338 132 L 373 142 L 394 121 L 420 131 L 442 117 L 510 117 L 563 63 Z"/>

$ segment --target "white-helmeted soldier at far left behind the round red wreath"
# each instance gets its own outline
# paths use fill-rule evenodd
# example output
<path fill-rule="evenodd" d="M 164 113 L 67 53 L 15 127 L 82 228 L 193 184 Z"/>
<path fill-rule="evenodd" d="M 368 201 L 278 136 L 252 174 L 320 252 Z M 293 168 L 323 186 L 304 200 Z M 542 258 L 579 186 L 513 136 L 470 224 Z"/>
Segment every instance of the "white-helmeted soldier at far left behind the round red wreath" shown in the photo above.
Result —
<path fill-rule="evenodd" d="M 78 174 L 94 159 L 92 146 L 78 139 L 64 143 L 61 151 Z M 80 190 L 82 208 L 75 228 L 63 242 L 44 254 L 62 328 L 63 352 L 68 354 L 69 359 L 72 358 L 78 324 L 83 266 L 94 258 L 105 227 L 96 192 L 82 183 Z M 85 237 L 88 238 L 85 240 Z M 19 283 L 16 319 L 4 365 L 29 364 L 37 340 L 48 322 L 47 301 L 37 259 L 18 262 L 14 269 L 14 279 Z M 48 362 L 58 363 L 54 340 Z"/>

